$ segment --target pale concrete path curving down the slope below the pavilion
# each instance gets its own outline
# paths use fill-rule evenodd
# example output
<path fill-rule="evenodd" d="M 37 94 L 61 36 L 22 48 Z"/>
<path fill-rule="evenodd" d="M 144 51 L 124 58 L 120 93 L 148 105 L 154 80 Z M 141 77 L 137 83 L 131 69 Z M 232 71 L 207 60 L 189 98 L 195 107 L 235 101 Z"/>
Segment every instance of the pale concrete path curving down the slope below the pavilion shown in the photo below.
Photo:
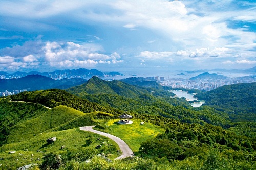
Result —
<path fill-rule="evenodd" d="M 80 130 L 97 133 L 97 134 L 106 136 L 106 137 L 114 140 L 118 144 L 119 148 L 121 149 L 121 151 L 123 153 L 121 156 L 117 157 L 116 159 L 122 159 L 122 158 L 126 158 L 129 156 L 134 156 L 133 151 L 128 147 L 128 145 L 122 139 L 120 139 L 119 137 L 116 137 L 114 135 L 108 134 L 108 133 L 94 130 L 94 129 L 92 129 L 93 127 L 95 127 L 95 125 L 94 126 L 84 126 L 84 127 L 80 127 Z"/>

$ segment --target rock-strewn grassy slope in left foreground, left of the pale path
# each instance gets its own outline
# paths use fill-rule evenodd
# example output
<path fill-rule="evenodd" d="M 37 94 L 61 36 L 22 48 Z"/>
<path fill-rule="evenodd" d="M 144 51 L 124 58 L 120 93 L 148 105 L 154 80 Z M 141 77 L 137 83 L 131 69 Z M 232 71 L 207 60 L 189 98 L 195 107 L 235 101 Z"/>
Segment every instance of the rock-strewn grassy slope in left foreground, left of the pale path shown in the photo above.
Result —
<path fill-rule="evenodd" d="M 48 144 L 46 139 L 53 136 L 56 136 L 56 141 L 52 144 Z M 92 140 L 90 145 L 86 144 L 86 139 L 88 138 Z M 44 153 L 48 152 L 57 152 L 61 155 L 67 152 L 68 149 L 95 149 L 96 145 L 103 145 L 103 142 L 114 145 L 117 150 L 119 150 L 118 145 L 111 139 L 98 134 L 80 131 L 79 128 L 42 133 L 24 142 L 3 145 L 0 148 L 0 158 L 4 159 L 0 160 L 0 164 L 2 164 L 0 169 L 17 169 L 23 165 L 41 163 Z M 63 145 L 65 145 L 65 148 L 60 150 Z M 106 145 L 106 147 L 108 147 L 108 145 Z M 16 153 L 9 154 L 9 151 L 16 151 Z M 99 151 L 95 149 L 95 152 Z M 108 157 L 113 160 L 118 156 L 119 154 L 117 152 L 113 152 Z"/>

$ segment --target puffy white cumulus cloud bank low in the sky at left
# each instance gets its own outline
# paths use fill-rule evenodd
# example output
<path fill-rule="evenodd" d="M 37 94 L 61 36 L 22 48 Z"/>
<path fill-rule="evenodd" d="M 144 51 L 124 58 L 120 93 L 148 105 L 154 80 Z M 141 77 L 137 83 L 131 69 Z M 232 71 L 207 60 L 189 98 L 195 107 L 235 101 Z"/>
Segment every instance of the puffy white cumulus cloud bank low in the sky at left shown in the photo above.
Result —
<path fill-rule="evenodd" d="M 25 51 L 28 44 L 40 47 L 37 51 L 32 47 L 31 54 L 24 57 L 18 57 L 17 49 Z M 40 44 L 40 45 L 38 45 Z M 20 68 L 38 68 L 40 65 L 51 68 L 65 67 L 95 67 L 97 64 L 116 64 L 121 63 L 120 54 L 117 52 L 111 55 L 100 53 L 101 47 L 95 44 L 78 44 L 74 42 L 56 42 L 41 40 L 25 42 L 23 45 L 17 45 L 12 48 L 5 48 L 4 51 L 14 56 L 0 56 L 0 67 L 17 70 Z M 27 53 L 26 53 L 27 54 Z"/>

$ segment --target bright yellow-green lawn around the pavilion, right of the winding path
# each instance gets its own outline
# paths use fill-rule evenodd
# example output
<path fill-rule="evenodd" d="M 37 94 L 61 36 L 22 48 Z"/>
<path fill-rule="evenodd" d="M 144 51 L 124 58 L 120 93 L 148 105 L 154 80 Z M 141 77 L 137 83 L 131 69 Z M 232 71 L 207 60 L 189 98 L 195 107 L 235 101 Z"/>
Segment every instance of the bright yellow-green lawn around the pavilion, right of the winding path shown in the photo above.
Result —
<path fill-rule="evenodd" d="M 158 133 L 163 133 L 165 130 L 151 123 L 145 122 L 141 125 L 140 120 L 131 119 L 132 124 L 122 125 L 117 124 L 119 119 L 109 120 L 103 125 L 105 132 L 121 138 L 135 152 L 139 151 L 140 144 L 150 138 L 157 136 Z M 100 129 L 98 129 L 100 130 Z M 101 130 L 102 131 L 102 130 Z"/>

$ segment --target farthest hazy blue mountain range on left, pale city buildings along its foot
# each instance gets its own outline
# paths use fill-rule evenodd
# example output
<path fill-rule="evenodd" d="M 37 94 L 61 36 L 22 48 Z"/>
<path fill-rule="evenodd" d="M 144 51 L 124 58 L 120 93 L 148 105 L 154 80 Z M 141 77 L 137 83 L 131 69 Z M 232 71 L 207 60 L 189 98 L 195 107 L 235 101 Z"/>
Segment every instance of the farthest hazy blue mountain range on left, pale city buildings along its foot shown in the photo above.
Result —
<path fill-rule="evenodd" d="M 0 78 L 2 79 L 11 79 L 11 78 L 20 78 L 25 77 L 28 75 L 41 75 L 50 77 L 55 80 L 60 80 L 63 78 L 91 78 L 93 76 L 98 77 L 107 77 L 107 76 L 123 76 L 123 74 L 119 72 L 108 72 L 103 73 L 97 69 L 85 69 L 85 68 L 79 68 L 79 69 L 65 69 L 65 70 L 56 70 L 53 72 L 37 72 L 37 71 L 31 71 L 29 73 L 27 72 L 14 72 L 13 74 L 9 74 L 7 72 L 0 71 Z"/>

